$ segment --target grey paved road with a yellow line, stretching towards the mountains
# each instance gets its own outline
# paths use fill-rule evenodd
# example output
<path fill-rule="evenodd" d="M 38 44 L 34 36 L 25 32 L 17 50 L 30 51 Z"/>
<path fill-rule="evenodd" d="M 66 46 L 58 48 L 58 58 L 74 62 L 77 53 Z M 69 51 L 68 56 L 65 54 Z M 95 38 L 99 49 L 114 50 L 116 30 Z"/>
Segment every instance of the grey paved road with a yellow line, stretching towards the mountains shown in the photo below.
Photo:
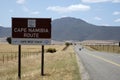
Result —
<path fill-rule="evenodd" d="M 74 49 L 87 70 L 90 80 L 120 80 L 120 55 L 89 51 L 76 45 Z"/>

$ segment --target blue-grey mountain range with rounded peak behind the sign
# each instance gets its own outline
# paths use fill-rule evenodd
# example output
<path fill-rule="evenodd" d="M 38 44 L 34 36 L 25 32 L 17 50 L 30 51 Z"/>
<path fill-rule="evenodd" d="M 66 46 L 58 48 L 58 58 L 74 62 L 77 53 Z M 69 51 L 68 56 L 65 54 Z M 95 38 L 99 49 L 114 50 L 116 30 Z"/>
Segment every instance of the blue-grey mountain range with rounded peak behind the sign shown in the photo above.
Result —
<path fill-rule="evenodd" d="M 84 20 L 64 17 L 52 21 L 54 40 L 120 40 L 120 26 L 97 26 Z M 0 27 L 0 37 L 11 36 L 11 28 Z"/>

